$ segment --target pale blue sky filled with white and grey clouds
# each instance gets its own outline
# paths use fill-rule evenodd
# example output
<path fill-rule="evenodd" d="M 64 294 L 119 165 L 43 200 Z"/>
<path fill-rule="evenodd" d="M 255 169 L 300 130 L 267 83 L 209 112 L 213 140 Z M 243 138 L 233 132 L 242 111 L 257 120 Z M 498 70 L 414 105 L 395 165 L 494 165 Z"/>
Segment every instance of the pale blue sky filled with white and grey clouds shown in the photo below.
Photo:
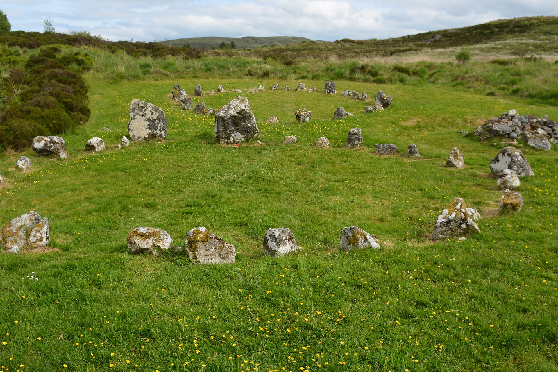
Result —
<path fill-rule="evenodd" d="M 558 15 L 556 0 L 2 0 L 12 30 L 85 30 L 110 40 L 200 36 L 387 38 L 502 18 Z"/>

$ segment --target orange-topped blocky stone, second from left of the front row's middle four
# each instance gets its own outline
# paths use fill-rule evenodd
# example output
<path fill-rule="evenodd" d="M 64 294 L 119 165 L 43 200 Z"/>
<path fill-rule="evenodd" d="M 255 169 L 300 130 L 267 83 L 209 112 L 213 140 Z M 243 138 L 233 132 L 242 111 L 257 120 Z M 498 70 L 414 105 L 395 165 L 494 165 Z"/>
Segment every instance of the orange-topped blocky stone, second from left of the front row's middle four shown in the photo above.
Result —
<path fill-rule="evenodd" d="M 184 245 L 188 257 L 201 264 L 234 263 L 234 245 L 207 231 L 204 226 L 186 233 Z"/>

